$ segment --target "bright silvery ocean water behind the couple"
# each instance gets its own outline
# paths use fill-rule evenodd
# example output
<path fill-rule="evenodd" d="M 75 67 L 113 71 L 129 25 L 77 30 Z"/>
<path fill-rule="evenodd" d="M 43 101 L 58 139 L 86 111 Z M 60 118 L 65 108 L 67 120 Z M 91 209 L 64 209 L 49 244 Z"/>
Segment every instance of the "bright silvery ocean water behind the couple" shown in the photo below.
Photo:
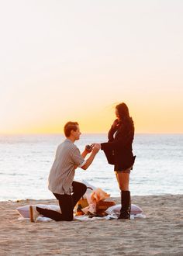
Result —
<path fill-rule="evenodd" d="M 47 178 L 63 135 L 0 136 L 0 201 L 54 199 Z M 106 134 L 81 134 L 77 144 L 107 141 Z M 136 134 L 136 162 L 130 175 L 132 195 L 183 194 L 183 134 Z M 113 166 L 100 150 L 86 170 L 76 169 L 74 180 L 87 181 L 111 196 L 119 196 Z"/>

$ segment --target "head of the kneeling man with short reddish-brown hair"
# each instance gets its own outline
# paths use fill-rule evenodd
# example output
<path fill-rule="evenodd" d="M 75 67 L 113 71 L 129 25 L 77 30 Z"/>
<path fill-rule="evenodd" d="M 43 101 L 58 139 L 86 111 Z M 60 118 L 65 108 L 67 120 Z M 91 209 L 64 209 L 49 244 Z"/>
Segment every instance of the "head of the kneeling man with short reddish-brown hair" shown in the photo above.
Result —
<path fill-rule="evenodd" d="M 79 130 L 79 124 L 77 122 L 67 122 L 64 125 L 65 137 L 71 137 L 73 140 L 79 140 L 81 132 Z"/>

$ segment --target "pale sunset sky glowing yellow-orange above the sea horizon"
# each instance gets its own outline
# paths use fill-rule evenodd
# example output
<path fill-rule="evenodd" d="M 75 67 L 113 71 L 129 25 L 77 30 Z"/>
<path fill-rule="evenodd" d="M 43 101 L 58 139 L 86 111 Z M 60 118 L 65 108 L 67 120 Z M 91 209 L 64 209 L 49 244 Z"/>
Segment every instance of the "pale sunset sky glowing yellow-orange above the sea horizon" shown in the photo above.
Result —
<path fill-rule="evenodd" d="M 183 133 L 182 0 L 0 0 L 0 133 Z"/>

